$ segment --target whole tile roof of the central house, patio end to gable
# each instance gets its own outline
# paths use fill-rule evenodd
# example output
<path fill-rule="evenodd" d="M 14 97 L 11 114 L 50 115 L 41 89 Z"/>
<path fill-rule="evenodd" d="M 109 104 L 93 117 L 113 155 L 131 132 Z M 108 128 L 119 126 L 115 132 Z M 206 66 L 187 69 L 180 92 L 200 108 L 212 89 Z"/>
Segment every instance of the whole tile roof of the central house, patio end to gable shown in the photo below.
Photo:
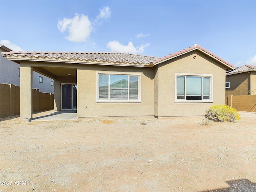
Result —
<path fill-rule="evenodd" d="M 234 69 L 236 68 L 229 62 L 223 60 L 219 56 L 213 54 L 212 52 L 206 50 L 202 46 L 198 44 L 194 44 L 193 46 L 190 46 L 188 48 L 185 48 L 183 50 L 180 50 L 178 52 L 174 52 L 172 54 L 163 56 L 163 57 L 154 57 L 154 56 L 145 56 L 145 55 L 139 55 L 139 54 L 132 54 L 132 53 L 120 53 L 120 52 L 37 52 L 37 51 L 31 51 L 31 52 L 24 52 L 24 51 L 11 51 L 11 52 L 2 52 L 3 56 L 28 56 L 28 57 L 41 57 L 41 58 L 61 58 L 61 59 L 74 59 L 74 60 L 96 60 L 96 61 L 108 61 L 108 62 L 123 62 L 123 63 L 134 63 L 134 64 L 143 64 L 145 66 L 154 66 L 158 64 L 159 62 L 163 62 L 165 60 L 174 58 L 176 56 L 179 56 L 181 54 L 185 54 L 186 52 L 190 52 L 192 50 L 200 49 L 203 52 L 206 52 L 207 54 L 210 54 L 217 60 L 220 60 L 227 66 L 230 66 L 230 68 Z"/>

